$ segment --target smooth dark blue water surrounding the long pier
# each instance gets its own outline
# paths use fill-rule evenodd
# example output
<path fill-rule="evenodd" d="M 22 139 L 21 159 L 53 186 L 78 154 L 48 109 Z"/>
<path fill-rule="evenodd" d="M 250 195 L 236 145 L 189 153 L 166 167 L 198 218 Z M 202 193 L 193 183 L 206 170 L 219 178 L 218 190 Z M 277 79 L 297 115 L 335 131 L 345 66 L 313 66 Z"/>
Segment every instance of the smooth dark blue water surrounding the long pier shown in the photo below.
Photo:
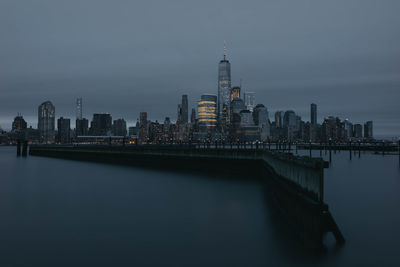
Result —
<path fill-rule="evenodd" d="M 400 264 L 397 156 L 333 154 L 325 202 L 347 242 L 316 253 L 246 177 L 15 151 L 0 147 L 0 266 Z"/>

